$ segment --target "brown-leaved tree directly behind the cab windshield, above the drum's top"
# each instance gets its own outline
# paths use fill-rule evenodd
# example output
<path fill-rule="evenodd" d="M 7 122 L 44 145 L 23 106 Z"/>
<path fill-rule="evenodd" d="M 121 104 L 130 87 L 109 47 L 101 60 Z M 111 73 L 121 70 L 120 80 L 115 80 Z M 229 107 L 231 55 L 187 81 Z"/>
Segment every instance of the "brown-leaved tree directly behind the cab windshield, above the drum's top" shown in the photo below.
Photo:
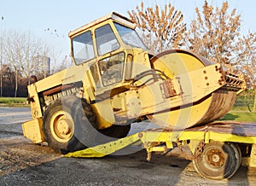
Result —
<path fill-rule="evenodd" d="M 177 48 L 183 45 L 183 33 L 186 25 L 183 24 L 183 14 L 177 11 L 171 3 L 160 9 L 159 5 L 154 8 L 140 8 L 128 11 L 131 20 L 143 30 L 143 39 L 148 49 L 160 52 L 166 49 Z"/>

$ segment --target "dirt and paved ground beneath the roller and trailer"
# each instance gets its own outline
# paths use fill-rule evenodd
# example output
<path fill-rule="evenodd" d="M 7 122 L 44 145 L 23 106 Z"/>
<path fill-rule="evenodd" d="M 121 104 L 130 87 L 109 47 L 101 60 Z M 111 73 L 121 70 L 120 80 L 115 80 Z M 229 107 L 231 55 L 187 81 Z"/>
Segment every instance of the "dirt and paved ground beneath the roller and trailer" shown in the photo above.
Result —
<path fill-rule="evenodd" d="M 21 133 L 29 108 L 0 108 L 0 185 L 255 185 L 256 171 L 241 167 L 225 181 L 202 178 L 177 149 L 172 156 L 145 150 L 101 159 L 66 158 Z M 133 126 L 131 131 L 138 130 Z"/>

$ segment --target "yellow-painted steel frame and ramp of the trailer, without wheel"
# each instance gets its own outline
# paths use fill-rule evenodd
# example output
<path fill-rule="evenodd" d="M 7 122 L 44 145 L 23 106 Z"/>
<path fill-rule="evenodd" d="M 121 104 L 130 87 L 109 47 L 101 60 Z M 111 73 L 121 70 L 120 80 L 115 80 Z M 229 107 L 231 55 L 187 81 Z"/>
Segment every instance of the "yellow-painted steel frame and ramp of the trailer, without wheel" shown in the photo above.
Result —
<path fill-rule="evenodd" d="M 143 143 L 143 148 L 147 149 L 148 154 L 152 152 L 166 152 L 172 149 L 172 142 L 184 142 L 189 140 L 189 149 L 195 153 L 198 143 L 201 140 L 218 142 L 241 142 L 252 143 L 253 149 L 249 160 L 249 166 L 256 167 L 256 137 L 241 137 L 234 134 L 217 133 L 212 131 L 141 131 L 129 137 L 125 137 L 113 142 L 98 145 L 92 148 L 85 148 L 76 152 L 66 154 L 66 157 L 76 158 L 100 158 L 108 154 L 113 154 L 119 149 L 125 148 L 135 142 Z M 166 143 L 166 145 L 162 144 Z M 138 144 L 138 143 L 137 143 Z M 162 144 L 162 146 L 159 146 Z M 245 160 L 244 160 L 245 161 Z M 245 162 L 243 162 L 245 164 Z"/>

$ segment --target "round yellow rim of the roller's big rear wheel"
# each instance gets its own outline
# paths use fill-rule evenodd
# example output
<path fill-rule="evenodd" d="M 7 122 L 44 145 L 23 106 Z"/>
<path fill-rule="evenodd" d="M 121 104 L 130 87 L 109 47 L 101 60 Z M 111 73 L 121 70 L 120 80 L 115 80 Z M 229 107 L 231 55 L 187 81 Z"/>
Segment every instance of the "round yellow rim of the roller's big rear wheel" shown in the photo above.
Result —
<path fill-rule="evenodd" d="M 73 119 L 67 112 L 54 113 L 50 119 L 49 128 L 52 136 L 58 142 L 68 142 L 73 137 Z"/>

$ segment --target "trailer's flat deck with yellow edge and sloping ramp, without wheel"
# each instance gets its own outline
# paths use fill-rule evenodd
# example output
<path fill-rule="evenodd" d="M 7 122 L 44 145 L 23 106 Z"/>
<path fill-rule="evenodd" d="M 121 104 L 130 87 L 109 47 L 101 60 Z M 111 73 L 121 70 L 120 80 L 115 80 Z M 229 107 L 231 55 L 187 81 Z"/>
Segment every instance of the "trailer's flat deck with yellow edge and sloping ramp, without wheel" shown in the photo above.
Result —
<path fill-rule="evenodd" d="M 256 123 L 236 121 L 215 121 L 208 125 L 201 125 L 183 131 L 164 130 L 161 128 L 139 131 L 128 137 L 117 139 L 113 142 L 85 148 L 76 152 L 66 154 L 66 157 L 93 158 L 103 157 L 125 148 L 133 143 L 143 144 L 143 148 L 153 152 L 153 144 L 166 142 L 166 148 L 173 148 L 172 142 L 197 140 L 208 143 L 210 140 L 218 142 L 240 142 L 256 144 Z M 149 147 L 151 144 L 152 147 Z M 147 145 L 145 145 L 147 144 Z M 151 149 L 149 149 L 151 148 Z M 157 150 L 158 151 L 158 150 Z"/>

